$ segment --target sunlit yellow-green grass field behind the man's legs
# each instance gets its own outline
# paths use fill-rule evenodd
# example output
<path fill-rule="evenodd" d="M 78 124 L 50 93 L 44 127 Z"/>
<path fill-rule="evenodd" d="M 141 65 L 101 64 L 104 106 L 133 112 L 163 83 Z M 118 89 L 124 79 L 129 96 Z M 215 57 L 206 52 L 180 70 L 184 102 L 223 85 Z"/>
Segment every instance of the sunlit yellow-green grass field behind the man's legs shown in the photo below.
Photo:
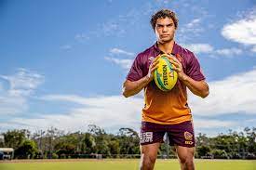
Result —
<path fill-rule="evenodd" d="M 256 170 L 256 161 L 195 160 L 197 170 Z M 177 169 L 177 160 L 157 160 L 155 170 Z M 0 162 L 0 170 L 138 170 L 139 160 L 54 160 Z"/>

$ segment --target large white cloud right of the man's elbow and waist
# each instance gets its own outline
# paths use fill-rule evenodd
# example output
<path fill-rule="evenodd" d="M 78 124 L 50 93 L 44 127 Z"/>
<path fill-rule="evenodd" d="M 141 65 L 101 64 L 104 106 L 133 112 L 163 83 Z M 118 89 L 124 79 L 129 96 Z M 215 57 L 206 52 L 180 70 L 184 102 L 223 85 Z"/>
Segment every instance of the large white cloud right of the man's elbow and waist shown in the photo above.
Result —
<path fill-rule="evenodd" d="M 196 115 L 216 116 L 241 112 L 256 114 L 256 69 L 241 72 L 221 81 L 209 82 L 209 97 L 190 95 L 190 106 Z"/>

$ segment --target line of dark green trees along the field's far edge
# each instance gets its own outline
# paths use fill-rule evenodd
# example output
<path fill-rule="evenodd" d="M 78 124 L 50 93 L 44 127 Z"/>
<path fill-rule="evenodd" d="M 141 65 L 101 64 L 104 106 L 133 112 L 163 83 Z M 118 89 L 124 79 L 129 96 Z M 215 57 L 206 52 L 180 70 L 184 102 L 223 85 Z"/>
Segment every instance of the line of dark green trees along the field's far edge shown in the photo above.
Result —
<path fill-rule="evenodd" d="M 64 133 L 55 127 L 31 133 L 27 129 L 14 129 L 2 133 L 5 137 L 0 148 L 13 148 L 15 159 L 65 158 L 140 158 L 140 137 L 131 128 L 120 128 L 108 134 L 95 124 L 87 132 Z M 246 127 L 241 132 L 229 130 L 227 134 L 195 137 L 195 158 L 256 159 L 256 128 Z M 161 145 L 159 157 L 175 157 L 173 147 Z"/>

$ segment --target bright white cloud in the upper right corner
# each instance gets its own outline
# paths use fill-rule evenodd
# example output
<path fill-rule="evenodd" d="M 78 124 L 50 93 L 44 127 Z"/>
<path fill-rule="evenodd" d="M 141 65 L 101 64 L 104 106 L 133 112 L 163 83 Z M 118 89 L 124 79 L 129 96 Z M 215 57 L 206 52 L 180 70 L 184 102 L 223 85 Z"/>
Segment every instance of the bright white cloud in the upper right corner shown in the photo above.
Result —
<path fill-rule="evenodd" d="M 240 44 L 256 45 L 255 25 L 256 9 L 253 9 L 246 18 L 224 25 L 222 36 Z"/>

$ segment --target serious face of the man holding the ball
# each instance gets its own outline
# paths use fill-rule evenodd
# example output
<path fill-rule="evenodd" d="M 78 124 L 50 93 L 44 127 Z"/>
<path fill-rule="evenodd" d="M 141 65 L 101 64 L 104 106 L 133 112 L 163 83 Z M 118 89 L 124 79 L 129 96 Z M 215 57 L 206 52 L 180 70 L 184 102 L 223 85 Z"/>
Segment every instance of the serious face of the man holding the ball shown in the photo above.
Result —
<path fill-rule="evenodd" d="M 157 19 L 155 23 L 155 35 L 160 43 L 168 43 L 174 38 L 175 25 L 172 19 Z"/>

